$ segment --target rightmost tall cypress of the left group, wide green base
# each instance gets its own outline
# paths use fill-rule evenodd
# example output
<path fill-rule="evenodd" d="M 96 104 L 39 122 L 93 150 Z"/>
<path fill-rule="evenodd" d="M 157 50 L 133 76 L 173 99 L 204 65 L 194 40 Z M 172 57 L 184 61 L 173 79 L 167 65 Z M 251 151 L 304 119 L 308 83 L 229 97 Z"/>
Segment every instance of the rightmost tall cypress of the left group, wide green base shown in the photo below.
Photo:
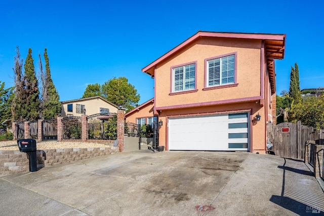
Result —
<path fill-rule="evenodd" d="M 44 51 L 44 59 L 45 59 L 46 73 L 42 77 L 42 85 L 43 85 L 42 93 L 43 93 L 43 102 L 44 102 L 43 118 L 51 119 L 51 118 L 55 118 L 59 113 L 61 113 L 61 102 L 60 102 L 60 96 L 54 86 L 51 77 L 50 62 L 49 62 L 49 57 L 47 55 L 46 48 Z"/>

